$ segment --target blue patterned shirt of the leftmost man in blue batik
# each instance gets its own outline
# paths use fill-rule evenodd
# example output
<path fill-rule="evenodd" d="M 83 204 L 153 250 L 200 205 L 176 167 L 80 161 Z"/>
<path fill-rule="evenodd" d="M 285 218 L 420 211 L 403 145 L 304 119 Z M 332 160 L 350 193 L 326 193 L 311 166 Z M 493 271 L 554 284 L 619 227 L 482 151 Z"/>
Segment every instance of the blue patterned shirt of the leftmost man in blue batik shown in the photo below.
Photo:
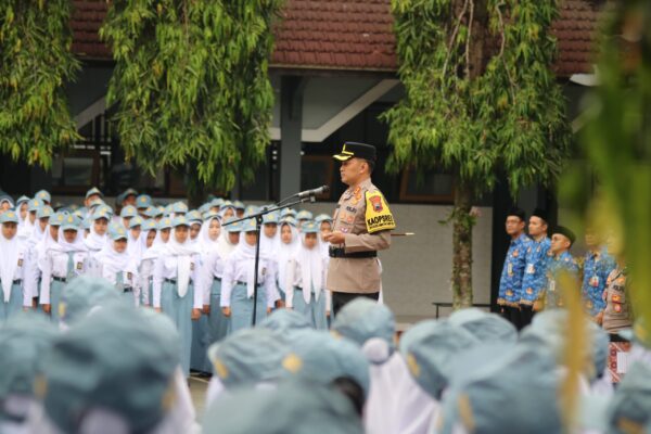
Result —
<path fill-rule="evenodd" d="M 520 304 L 520 298 L 522 297 L 522 278 L 526 265 L 526 250 L 531 243 L 532 240 L 524 233 L 515 240 L 511 240 L 501 279 L 499 280 L 498 305 L 516 307 Z"/>

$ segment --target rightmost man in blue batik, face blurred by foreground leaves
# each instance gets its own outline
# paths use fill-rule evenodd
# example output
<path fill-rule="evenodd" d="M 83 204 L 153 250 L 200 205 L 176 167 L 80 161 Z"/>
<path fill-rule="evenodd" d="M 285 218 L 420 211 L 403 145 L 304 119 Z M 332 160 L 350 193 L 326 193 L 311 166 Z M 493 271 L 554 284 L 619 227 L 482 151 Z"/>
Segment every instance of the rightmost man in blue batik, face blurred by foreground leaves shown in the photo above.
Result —
<path fill-rule="evenodd" d="M 615 269 L 615 259 L 607 253 L 592 230 L 586 230 L 585 240 L 588 251 L 584 260 L 580 292 L 586 311 L 595 322 L 601 324 L 605 309 L 603 291 L 608 276 Z"/>

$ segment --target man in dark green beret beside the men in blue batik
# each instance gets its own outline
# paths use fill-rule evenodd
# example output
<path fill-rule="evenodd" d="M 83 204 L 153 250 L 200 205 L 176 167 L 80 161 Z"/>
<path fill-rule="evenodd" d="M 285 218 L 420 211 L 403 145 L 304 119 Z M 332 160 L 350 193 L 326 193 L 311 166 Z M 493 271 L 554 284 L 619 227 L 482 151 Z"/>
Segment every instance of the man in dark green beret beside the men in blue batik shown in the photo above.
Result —
<path fill-rule="evenodd" d="M 547 288 L 538 295 L 534 310 L 539 311 L 563 307 L 563 273 L 572 279 L 578 279 L 578 265 L 570 254 L 570 247 L 576 237 L 570 229 L 559 226 L 551 234 L 549 252 L 551 257 L 547 267 Z"/>

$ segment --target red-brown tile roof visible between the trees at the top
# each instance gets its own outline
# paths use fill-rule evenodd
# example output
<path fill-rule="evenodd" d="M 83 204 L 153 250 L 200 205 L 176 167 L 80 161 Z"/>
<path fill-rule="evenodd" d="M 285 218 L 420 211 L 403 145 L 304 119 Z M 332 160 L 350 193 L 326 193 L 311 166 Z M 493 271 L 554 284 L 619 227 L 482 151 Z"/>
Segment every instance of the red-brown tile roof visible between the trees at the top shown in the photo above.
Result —
<path fill-rule="evenodd" d="M 271 65 L 288 68 L 396 71 L 391 0 L 288 0 L 276 30 Z M 87 59 L 111 59 L 98 37 L 105 0 L 74 0 L 73 50 Z M 563 0 L 554 23 L 559 76 L 591 72 L 600 16 L 593 0 Z"/>

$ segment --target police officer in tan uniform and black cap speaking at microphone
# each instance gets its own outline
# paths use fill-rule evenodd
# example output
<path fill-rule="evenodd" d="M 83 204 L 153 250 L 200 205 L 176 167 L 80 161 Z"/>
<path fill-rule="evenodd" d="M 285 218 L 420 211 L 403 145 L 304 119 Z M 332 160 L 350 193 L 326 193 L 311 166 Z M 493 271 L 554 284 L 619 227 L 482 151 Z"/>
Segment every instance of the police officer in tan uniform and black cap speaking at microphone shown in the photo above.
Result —
<path fill-rule="evenodd" d="M 384 196 L 371 182 L 375 167 L 375 148 L 346 142 L 334 155 L 342 163 L 342 194 L 333 217 L 327 288 L 332 292 L 334 314 L 358 296 L 379 298 L 381 267 L 378 251 L 391 245 L 395 221 Z"/>

